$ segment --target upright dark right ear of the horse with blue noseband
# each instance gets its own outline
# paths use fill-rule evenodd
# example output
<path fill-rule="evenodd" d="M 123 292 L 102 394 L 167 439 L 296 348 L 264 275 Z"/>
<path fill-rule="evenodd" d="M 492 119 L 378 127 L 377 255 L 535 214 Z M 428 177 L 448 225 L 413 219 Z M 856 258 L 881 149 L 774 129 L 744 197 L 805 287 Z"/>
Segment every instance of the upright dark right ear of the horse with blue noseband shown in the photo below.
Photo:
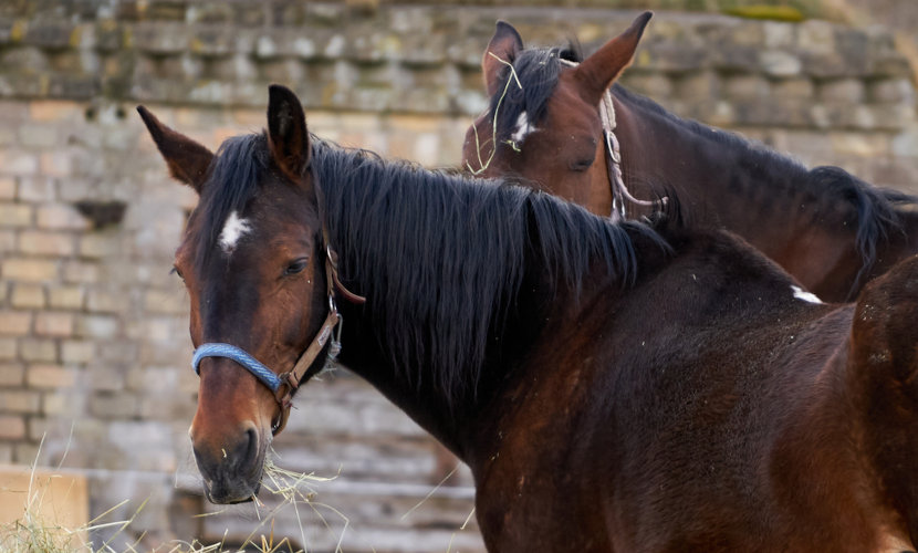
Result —
<path fill-rule="evenodd" d="M 300 98 L 279 84 L 268 88 L 268 144 L 278 167 L 299 182 L 310 164 L 310 135 Z"/>

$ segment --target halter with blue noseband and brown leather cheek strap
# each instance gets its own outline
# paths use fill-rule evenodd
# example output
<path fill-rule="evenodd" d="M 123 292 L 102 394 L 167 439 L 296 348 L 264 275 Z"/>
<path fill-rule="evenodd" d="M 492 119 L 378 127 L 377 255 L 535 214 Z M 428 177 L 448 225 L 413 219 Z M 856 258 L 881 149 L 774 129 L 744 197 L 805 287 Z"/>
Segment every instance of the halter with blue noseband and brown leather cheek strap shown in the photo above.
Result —
<path fill-rule="evenodd" d="M 296 359 L 293 368 L 285 373 L 275 374 L 241 347 L 219 342 L 201 344 L 195 349 L 191 358 L 191 367 L 198 375 L 200 375 L 199 367 L 201 359 L 205 357 L 226 357 L 234 361 L 252 373 L 261 384 L 271 390 L 274 395 L 274 400 L 278 401 L 278 406 L 280 407 L 278 418 L 271 421 L 271 434 L 274 436 L 280 434 L 284 426 L 286 426 L 293 394 L 300 387 L 303 376 L 322 353 L 330 338 L 332 342 L 328 347 L 326 363 L 337 357 L 338 352 L 341 352 L 341 328 L 344 325 L 344 319 L 337 311 L 335 292 L 341 293 L 352 303 L 361 304 L 366 302 L 366 298 L 351 292 L 341 283 L 337 274 L 337 253 L 332 249 L 331 242 L 328 241 L 328 229 L 324 218 L 322 221 L 322 242 L 325 247 L 325 283 L 328 292 L 328 314 L 325 316 L 325 321 L 322 323 L 315 337 L 310 342 L 303 353 L 300 354 L 300 358 Z M 336 326 L 337 328 L 335 328 Z"/>

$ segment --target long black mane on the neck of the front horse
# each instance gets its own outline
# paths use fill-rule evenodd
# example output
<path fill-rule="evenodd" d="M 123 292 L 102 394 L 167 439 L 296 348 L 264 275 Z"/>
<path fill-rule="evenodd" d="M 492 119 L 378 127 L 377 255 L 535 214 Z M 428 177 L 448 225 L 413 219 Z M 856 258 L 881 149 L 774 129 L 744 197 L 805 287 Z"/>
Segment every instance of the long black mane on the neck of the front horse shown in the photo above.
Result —
<path fill-rule="evenodd" d="M 416 385 L 435 378 L 452 398 L 474 389 L 528 259 L 578 290 L 596 262 L 632 282 L 635 233 L 667 249 L 641 223 L 371 152 L 314 143 L 311 170 L 342 275 L 367 298 L 380 346 Z"/>

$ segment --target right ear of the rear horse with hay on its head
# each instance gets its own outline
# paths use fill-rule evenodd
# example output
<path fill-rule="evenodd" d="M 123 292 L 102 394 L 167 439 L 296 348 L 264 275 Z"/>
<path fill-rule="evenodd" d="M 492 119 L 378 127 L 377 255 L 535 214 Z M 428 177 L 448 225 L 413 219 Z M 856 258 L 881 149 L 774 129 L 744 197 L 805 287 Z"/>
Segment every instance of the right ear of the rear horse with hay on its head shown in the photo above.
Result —
<path fill-rule="evenodd" d="M 654 13 L 649 11 L 638 15 L 625 32 L 606 42 L 577 66 L 575 77 L 583 83 L 591 98 L 596 96 L 598 102 L 625 67 L 632 64 L 637 43 L 651 17 Z"/>

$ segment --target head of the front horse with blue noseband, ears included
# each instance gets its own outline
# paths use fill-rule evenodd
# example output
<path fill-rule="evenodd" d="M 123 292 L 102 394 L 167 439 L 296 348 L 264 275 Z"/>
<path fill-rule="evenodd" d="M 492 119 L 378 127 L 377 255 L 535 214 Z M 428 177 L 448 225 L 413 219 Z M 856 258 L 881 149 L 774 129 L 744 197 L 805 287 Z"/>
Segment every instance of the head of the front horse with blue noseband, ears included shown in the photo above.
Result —
<path fill-rule="evenodd" d="M 173 177 L 199 195 L 175 255 L 198 348 L 195 458 L 211 501 L 248 501 L 299 380 L 325 359 L 315 355 L 306 371 L 290 375 L 315 348 L 313 336 L 327 334 L 326 255 L 305 117 L 292 92 L 272 86 L 268 131 L 229 138 L 215 155 L 143 106 L 138 112 Z"/>

